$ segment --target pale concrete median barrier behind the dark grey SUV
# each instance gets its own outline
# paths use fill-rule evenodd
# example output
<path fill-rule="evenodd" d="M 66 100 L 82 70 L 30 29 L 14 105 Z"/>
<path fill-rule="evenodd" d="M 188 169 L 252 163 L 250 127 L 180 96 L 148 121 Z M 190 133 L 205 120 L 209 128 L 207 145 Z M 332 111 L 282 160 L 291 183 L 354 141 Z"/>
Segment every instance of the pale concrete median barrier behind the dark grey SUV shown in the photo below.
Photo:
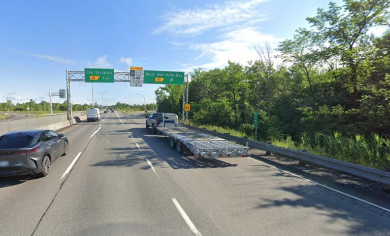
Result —
<path fill-rule="evenodd" d="M 77 122 L 82 122 L 86 119 L 86 114 L 84 111 L 73 112 L 72 120 L 68 121 L 67 118 L 67 114 L 58 114 L 14 121 L 0 121 L 0 135 L 16 130 L 58 130 Z"/>

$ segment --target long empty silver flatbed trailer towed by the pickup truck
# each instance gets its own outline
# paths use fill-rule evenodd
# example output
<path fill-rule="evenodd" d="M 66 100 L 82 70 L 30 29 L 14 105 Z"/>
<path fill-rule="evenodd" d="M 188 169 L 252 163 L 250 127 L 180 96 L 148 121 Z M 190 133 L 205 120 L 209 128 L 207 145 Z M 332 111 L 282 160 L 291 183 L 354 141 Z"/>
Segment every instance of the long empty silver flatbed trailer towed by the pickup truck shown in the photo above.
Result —
<path fill-rule="evenodd" d="M 249 147 L 184 127 L 157 127 L 157 132 L 170 139 L 170 146 L 180 154 L 195 158 L 247 157 Z"/>

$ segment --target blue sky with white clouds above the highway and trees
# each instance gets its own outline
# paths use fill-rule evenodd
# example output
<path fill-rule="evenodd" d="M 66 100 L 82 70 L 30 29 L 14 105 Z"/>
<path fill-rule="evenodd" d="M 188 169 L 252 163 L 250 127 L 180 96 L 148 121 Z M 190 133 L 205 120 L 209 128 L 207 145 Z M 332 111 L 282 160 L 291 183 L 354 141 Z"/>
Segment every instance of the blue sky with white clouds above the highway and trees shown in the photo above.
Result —
<path fill-rule="evenodd" d="M 333 1 L 341 4 L 341 1 Z M 192 71 L 243 65 L 253 49 L 291 38 L 324 0 L 247 1 L 1 1 L 0 100 L 49 100 L 66 89 L 66 70 L 85 67 L 128 71 Z M 94 101 L 143 103 L 157 85 L 94 84 Z M 62 102 L 55 97 L 54 102 Z M 72 82 L 73 103 L 91 103 L 91 84 Z"/>

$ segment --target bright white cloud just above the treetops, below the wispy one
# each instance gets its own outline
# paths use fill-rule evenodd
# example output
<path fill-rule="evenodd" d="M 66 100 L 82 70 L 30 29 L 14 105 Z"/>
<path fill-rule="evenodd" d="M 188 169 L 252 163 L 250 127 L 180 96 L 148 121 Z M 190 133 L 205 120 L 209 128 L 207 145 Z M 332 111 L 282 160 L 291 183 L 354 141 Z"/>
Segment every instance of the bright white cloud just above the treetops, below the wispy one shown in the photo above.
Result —
<path fill-rule="evenodd" d="M 192 64 L 182 64 L 184 70 L 191 71 L 193 68 L 202 67 L 204 69 L 221 68 L 228 64 L 228 60 L 246 64 L 249 60 L 257 60 L 258 55 L 254 48 L 264 43 L 269 43 L 275 48 L 282 38 L 273 35 L 264 35 L 254 27 L 246 27 L 230 32 L 225 32 L 220 36 L 221 40 L 215 43 L 188 44 L 188 48 L 199 51 L 200 54 L 193 59 Z M 196 64 L 195 62 L 203 58 L 209 62 Z"/>

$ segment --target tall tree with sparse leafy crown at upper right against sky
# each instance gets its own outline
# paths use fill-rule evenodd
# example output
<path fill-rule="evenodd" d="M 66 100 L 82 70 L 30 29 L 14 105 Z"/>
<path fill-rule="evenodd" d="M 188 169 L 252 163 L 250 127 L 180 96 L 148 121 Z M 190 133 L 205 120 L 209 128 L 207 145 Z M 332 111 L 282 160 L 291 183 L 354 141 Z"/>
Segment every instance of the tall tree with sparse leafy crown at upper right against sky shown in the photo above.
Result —
<path fill-rule="evenodd" d="M 329 10 L 317 10 L 315 17 L 308 17 L 316 28 L 321 45 L 329 44 L 322 52 L 325 58 L 339 55 L 346 67 L 343 74 L 344 86 L 352 94 L 352 107 L 358 107 L 359 91 L 366 82 L 372 66 L 369 58 L 375 51 L 367 34 L 373 26 L 384 25 L 388 19 L 387 0 L 345 0 L 343 7 L 329 4 Z"/>

